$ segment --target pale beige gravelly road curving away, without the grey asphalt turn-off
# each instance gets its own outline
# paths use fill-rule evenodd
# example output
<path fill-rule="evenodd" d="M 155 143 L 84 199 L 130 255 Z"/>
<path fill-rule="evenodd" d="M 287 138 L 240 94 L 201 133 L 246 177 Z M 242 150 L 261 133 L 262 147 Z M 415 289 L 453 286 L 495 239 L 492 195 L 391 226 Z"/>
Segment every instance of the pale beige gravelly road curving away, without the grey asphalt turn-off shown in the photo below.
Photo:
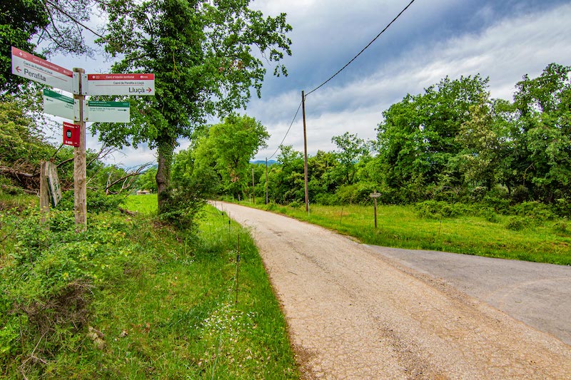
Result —
<path fill-rule="evenodd" d="M 253 235 L 306 379 L 571 379 L 571 346 L 323 228 L 217 203 Z"/>

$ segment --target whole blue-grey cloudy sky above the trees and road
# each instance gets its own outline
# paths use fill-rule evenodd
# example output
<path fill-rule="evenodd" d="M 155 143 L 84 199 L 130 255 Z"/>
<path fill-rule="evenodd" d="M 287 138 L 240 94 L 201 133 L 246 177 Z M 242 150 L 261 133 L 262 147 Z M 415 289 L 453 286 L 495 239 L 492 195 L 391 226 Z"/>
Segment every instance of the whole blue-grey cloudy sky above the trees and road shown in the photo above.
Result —
<path fill-rule="evenodd" d="M 270 158 L 284 137 L 285 145 L 303 151 L 301 112 L 286 135 L 301 91 L 309 93 L 348 63 L 409 2 L 253 0 L 265 15 L 285 12 L 293 26 L 293 55 L 284 61 L 289 75 L 273 78 L 268 68 L 262 98 L 245 111 L 271 134 L 256 159 Z M 479 73 L 490 78 L 493 98 L 511 100 L 525 73 L 535 77 L 548 63 L 571 64 L 570 20 L 569 0 L 415 0 L 350 66 L 306 97 L 308 153 L 333 150 L 331 138 L 346 131 L 375 138 L 385 109 L 445 76 Z M 123 150 L 110 163 L 153 160 L 152 151 L 140 148 Z"/>

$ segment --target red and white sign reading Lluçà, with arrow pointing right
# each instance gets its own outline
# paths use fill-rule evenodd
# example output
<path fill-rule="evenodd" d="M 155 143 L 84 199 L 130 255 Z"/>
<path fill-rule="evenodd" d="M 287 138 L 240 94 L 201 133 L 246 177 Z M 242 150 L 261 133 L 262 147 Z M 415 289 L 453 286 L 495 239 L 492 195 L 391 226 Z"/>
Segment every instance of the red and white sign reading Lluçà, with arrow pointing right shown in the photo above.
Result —
<path fill-rule="evenodd" d="M 83 77 L 84 95 L 155 95 L 155 74 L 83 74 Z"/>

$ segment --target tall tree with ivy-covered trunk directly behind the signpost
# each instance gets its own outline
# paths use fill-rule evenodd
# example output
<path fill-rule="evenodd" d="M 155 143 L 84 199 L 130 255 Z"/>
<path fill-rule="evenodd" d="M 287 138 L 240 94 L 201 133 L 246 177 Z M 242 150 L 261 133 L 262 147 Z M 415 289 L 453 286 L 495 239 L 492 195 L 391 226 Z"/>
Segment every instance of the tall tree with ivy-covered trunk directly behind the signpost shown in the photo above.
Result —
<path fill-rule="evenodd" d="M 156 96 L 141 97 L 132 123 L 99 125 L 101 138 L 117 146 L 148 143 L 158 151 L 159 193 L 168 192 L 173 150 L 178 138 L 211 115 L 243 108 L 251 88 L 261 95 L 263 60 L 278 63 L 290 54 L 285 14 L 264 19 L 248 0 L 110 1 L 108 31 L 99 40 L 121 56 L 115 72 L 154 73 Z M 258 48 L 254 52 L 253 48 Z M 285 75 L 277 65 L 274 74 Z"/>

